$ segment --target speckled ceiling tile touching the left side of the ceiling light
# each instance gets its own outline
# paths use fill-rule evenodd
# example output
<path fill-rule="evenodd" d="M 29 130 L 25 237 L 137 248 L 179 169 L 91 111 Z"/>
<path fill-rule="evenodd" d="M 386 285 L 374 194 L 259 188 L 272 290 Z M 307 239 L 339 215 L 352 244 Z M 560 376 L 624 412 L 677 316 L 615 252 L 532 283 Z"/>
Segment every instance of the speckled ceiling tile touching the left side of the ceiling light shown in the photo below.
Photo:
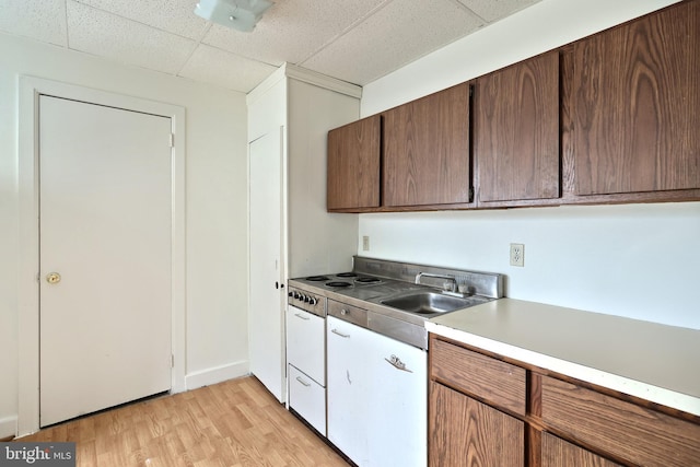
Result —
<path fill-rule="evenodd" d="M 77 1 L 191 39 L 199 40 L 207 28 L 207 21 L 195 14 L 197 0 Z"/>

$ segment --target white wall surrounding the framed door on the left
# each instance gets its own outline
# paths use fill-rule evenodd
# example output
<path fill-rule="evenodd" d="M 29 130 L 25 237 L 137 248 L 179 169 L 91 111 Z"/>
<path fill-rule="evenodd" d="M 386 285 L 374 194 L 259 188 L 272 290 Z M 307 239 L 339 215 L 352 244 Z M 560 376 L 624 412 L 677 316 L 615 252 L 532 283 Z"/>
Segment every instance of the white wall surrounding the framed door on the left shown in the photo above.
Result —
<path fill-rule="evenodd" d="M 186 108 L 187 385 L 247 373 L 245 95 L 3 34 L 0 57 L 0 437 L 18 413 L 20 74 Z"/>

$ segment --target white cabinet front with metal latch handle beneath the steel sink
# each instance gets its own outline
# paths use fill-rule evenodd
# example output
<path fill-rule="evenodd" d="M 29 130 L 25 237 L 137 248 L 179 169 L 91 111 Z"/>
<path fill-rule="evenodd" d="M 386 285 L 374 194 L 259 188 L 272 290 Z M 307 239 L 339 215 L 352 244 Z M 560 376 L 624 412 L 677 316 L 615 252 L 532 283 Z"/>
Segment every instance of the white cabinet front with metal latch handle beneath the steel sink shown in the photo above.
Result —
<path fill-rule="evenodd" d="M 425 466 L 427 354 L 326 318 L 328 440 L 360 467 Z"/>

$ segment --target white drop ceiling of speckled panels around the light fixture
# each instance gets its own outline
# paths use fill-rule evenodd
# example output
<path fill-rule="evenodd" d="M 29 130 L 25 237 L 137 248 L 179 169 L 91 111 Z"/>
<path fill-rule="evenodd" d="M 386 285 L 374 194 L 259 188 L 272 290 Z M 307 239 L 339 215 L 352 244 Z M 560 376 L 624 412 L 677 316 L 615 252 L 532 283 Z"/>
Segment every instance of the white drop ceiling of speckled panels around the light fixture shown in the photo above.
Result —
<path fill-rule="evenodd" d="M 540 0 L 273 0 L 253 33 L 197 0 L 0 0 L 0 31 L 247 93 L 284 62 L 364 85 Z"/>

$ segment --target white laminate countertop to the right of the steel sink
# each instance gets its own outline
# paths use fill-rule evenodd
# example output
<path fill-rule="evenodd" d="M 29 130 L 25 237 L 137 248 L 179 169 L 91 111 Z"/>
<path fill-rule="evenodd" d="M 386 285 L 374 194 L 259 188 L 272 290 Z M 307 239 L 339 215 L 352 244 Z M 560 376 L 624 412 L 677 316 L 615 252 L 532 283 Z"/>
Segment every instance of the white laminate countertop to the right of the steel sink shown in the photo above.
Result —
<path fill-rule="evenodd" d="M 700 416 L 700 330 L 500 299 L 430 332 Z"/>

